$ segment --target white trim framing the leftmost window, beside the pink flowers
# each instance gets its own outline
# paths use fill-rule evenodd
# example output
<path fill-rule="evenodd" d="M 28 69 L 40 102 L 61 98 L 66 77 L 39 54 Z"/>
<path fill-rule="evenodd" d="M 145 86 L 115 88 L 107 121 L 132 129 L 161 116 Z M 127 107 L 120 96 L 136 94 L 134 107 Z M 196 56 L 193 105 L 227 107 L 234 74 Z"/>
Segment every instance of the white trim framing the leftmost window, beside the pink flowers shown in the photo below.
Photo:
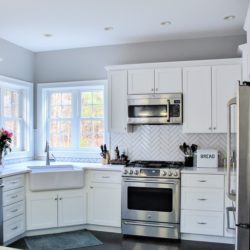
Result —
<path fill-rule="evenodd" d="M 5 156 L 6 160 L 30 158 L 34 156 L 34 136 L 33 136 L 33 83 L 26 82 L 10 77 L 0 75 L 0 87 L 13 90 L 22 90 L 23 105 L 23 128 L 20 133 L 24 133 L 23 149 L 21 151 L 12 151 Z M 2 95 L 2 93 L 1 93 Z M 2 107 L 1 107 L 2 108 Z M 8 128 L 6 128 L 8 129 Z M 23 139 L 23 138 L 21 138 Z"/>

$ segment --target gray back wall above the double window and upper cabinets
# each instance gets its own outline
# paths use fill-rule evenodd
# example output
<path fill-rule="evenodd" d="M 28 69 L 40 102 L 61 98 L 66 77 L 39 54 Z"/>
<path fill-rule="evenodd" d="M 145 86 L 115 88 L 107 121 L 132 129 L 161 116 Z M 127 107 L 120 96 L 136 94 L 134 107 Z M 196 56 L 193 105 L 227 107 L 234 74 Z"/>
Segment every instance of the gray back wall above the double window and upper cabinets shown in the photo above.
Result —
<path fill-rule="evenodd" d="M 36 53 L 35 81 L 106 79 L 104 66 L 239 57 L 246 36 L 102 46 Z"/>

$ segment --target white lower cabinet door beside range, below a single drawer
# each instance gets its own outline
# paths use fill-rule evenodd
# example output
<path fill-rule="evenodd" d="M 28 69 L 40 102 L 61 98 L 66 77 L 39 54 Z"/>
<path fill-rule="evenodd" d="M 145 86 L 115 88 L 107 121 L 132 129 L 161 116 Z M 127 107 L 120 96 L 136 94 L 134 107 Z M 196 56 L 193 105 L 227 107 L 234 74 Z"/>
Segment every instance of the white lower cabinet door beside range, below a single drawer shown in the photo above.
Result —
<path fill-rule="evenodd" d="M 121 226 L 120 184 L 91 184 L 88 195 L 88 224 Z"/>

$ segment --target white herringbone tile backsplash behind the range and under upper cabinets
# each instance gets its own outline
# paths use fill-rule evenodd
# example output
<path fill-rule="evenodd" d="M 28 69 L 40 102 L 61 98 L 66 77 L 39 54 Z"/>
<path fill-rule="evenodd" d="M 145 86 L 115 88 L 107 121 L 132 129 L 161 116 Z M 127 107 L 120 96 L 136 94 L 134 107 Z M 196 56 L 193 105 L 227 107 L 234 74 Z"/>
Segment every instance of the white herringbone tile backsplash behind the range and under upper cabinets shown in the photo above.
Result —
<path fill-rule="evenodd" d="M 179 145 L 197 144 L 200 149 L 218 149 L 226 156 L 226 134 L 183 134 L 182 126 L 135 126 L 132 133 L 111 133 L 112 153 L 116 146 L 130 160 L 183 161 Z"/>

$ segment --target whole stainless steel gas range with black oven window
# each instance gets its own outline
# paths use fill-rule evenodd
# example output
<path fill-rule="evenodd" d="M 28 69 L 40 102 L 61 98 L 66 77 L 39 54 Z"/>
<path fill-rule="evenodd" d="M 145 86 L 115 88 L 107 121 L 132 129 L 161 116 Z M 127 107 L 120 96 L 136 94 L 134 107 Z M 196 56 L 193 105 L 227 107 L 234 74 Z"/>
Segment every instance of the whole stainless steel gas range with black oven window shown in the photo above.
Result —
<path fill-rule="evenodd" d="M 122 175 L 122 233 L 180 238 L 183 162 L 134 161 Z"/>

